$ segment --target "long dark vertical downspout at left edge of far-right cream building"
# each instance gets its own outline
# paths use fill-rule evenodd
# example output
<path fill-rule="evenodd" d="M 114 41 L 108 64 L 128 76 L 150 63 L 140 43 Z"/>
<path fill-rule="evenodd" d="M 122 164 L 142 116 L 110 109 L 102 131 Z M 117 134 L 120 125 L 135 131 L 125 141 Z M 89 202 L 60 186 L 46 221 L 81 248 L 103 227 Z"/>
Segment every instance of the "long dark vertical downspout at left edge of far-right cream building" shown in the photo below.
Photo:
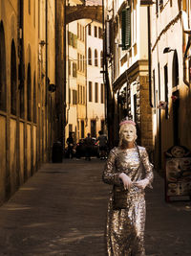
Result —
<path fill-rule="evenodd" d="M 150 6 L 147 7 L 148 18 L 148 64 L 149 64 L 149 104 L 153 107 L 152 103 L 152 82 L 151 82 L 151 15 Z"/>

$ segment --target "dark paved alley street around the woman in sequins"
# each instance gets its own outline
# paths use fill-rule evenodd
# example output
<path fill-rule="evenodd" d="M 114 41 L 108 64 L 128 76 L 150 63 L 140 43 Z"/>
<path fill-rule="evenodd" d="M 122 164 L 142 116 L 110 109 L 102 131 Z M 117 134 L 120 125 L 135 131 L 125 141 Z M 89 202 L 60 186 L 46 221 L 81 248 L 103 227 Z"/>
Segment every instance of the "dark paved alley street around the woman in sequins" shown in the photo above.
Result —
<path fill-rule="evenodd" d="M 103 164 L 95 158 L 43 165 L 0 207 L 0 255 L 104 256 L 110 187 L 101 181 Z M 191 255 L 189 203 L 165 203 L 157 174 L 146 198 L 147 255 Z"/>

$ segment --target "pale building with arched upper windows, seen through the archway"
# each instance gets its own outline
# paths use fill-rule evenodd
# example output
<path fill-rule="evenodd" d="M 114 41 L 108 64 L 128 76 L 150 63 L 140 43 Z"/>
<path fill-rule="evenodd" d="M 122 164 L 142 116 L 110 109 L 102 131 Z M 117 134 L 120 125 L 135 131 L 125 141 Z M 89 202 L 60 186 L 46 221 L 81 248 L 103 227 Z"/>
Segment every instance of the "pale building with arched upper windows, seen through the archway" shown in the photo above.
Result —
<path fill-rule="evenodd" d="M 102 24 L 90 22 L 86 26 L 87 47 L 87 116 L 86 131 L 93 137 L 105 130 L 105 88 L 100 71 L 103 68 Z"/>

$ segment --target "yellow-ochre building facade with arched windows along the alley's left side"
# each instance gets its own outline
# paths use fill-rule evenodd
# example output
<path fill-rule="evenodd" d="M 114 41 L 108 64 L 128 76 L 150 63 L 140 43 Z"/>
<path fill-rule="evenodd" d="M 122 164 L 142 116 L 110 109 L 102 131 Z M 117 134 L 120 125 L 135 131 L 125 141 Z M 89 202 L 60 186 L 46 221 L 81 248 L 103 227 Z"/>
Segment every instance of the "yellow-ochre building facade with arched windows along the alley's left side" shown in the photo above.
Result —
<path fill-rule="evenodd" d="M 50 159 L 54 1 L 0 1 L 0 204 Z"/>

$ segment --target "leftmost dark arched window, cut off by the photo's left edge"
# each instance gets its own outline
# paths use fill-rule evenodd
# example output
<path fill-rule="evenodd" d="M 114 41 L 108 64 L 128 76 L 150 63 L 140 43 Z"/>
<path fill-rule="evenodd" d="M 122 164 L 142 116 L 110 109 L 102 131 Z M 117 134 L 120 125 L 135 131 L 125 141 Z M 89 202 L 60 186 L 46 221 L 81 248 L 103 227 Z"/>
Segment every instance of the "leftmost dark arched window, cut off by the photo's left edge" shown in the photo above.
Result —
<path fill-rule="evenodd" d="M 0 109 L 6 110 L 6 47 L 3 23 L 0 23 Z"/>

